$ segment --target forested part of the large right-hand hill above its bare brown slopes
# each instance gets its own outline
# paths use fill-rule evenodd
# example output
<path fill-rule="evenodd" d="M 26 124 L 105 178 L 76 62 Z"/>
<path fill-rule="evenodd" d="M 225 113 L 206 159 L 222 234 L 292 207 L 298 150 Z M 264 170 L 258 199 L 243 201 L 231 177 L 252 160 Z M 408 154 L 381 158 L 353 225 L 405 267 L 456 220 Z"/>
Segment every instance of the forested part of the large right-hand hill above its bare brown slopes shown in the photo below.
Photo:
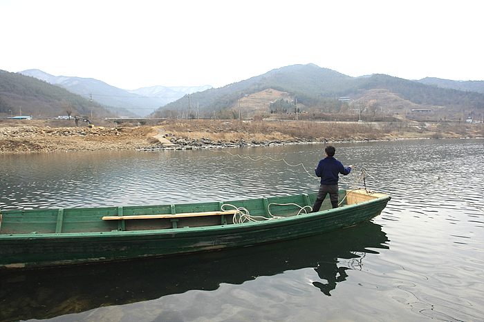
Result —
<path fill-rule="evenodd" d="M 484 94 L 478 92 L 438 88 L 435 85 L 384 74 L 349 77 L 334 70 L 308 64 L 271 70 L 223 88 L 194 93 L 189 99 L 183 97 L 165 105 L 158 113 L 164 110 L 186 110 L 189 102 L 192 110 L 198 104 L 201 112 L 213 113 L 234 108 L 239 99 L 267 89 L 287 92 L 291 99 L 297 99 L 298 104 L 304 105 L 306 111 L 324 110 L 324 106 L 328 104 L 334 106 L 339 97 L 350 97 L 351 101 L 376 100 L 378 98 L 375 95 L 372 97 L 369 94 L 381 90 L 380 92 L 387 92 L 398 98 L 393 99 L 393 105 L 392 100 L 386 100 L 385 108 L 389 113 L 402 112 L 401 101 L 408 102 L 407 105 L 412 105 L 413 108 L 433 107 L 434 110 L 449 114 L 455 114 L 456 111 L 484 112 Z"/>

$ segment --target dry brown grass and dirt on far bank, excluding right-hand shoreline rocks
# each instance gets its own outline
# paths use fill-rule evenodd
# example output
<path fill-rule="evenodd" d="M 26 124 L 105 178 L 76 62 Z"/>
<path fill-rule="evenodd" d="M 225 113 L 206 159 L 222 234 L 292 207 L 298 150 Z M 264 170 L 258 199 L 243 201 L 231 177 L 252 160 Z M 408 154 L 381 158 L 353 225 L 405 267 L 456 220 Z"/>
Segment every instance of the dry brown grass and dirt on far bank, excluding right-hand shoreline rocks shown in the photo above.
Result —
<path fill-rule="evenodd" d="M 52 123 L 53 125 L 55 123 Z M 64 125 L 62 123 L 57 123 Z M 177 120 L 163 121 L 153 127 L 132 128 L 84 128 L 86 135 L 63 136 L 72 128 L 40 128 L 46 126 L 35 120 L 28 123 L 0 122 L 0 128 L 26 127 L 17 137 L 0 137 L 0 153 L 66 150 L 132 150 L 159 143 L 153 138 L 159 129 L 176 137 L 214 141 L 328 141 L 378 140 L 399 138 L 459 138 L 484 137 L 484 124 L 467 123 L 358 123 L 358 122 L 314 122 L 314 121 L 211 121 Z M 57 134 L 56 134 L 57 133 Z"/>

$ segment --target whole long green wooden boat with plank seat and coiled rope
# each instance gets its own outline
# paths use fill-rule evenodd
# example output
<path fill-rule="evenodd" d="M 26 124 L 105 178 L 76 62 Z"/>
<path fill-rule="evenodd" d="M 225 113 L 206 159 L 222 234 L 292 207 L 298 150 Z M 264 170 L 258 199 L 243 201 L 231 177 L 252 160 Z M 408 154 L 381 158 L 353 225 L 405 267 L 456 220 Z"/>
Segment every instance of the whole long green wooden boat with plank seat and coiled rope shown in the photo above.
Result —
<path fill-rule="evenodd" d="M 286 197 L 105 208 L 3 210 L 0 270 L 139 259 L 307 237 L 378 216 L 387 194 L 341 190 L 340 207 Z M 328 198 L 326 198 L 328 199 Z"/>

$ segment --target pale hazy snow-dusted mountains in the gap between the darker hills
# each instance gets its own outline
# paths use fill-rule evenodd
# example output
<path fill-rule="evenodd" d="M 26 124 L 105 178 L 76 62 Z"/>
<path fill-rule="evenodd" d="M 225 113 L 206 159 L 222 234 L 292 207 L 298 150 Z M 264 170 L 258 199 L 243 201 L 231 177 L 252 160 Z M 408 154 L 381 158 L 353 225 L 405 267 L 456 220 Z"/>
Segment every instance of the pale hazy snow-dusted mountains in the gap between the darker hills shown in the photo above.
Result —
<path fill-rule="evenodd" d="M 92 78 L 53 76 L 37 69 L 24 70 L 19 73 L 35 77 L 53 85 L 59 85 L 89 100 L 92 94 L 93 101 L 110 108 L 114 114 L 128 110 L 131 112 L 131 116 L 140 117 L 145 117 L 153 110 L 156 110 L 156 108 L 160 108 L 160 106 L 164 106 L 171 101 L 176 101 L 186 94 L 212 88 L 210 85 L 192 87 L 153 86 L 139 88 L 138 90 L 122 90 Z"/>

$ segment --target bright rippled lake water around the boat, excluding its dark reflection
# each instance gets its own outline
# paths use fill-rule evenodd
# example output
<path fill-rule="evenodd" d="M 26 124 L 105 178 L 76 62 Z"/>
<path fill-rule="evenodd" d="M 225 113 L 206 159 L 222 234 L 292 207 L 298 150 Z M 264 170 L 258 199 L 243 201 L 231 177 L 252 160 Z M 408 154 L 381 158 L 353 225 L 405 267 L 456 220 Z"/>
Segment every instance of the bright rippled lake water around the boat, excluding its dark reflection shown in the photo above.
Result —
<path fill-rule="evenodd" d="M 153 316 L 159 321 L 484 321 L 484 215 L 470 205 L 484 208 L 482 140 L 336 145 L 338 159 L 365 167 L 376 179 L 366 177 L 369 189 L 389 193 L 392 199 L 373 219 L 386 234 L 388 249 L 368 252 L 360 266 L 338 259 L 348 277 L 337 283 L 331 296 L 313 284 L 328 281 L 315 268 L 305 267 L 254 276 L 242 285 L 222 283 L 210 292 L 189 290 L 79 316 L 96 321 L 112 316 L 126 321 Z M 322 147 L 231 152 L 286 157 L 292 164 L 303 162 L 313 174 Z M 212 151 L 0 159 L 1 210 L 223 201 L 316 192 L 319 187 L 318 179 L 300 167 Z M 429 183 L 438 177 L 452 192 L 439 181 Z M 351 176 L 341 180 L 342 187 L 353 183 Z M 422 187 L 408 188 L 417 185 Z M 326 250 L 332 249 L 329 244 Z M 245 269 L 250 271 L 251 266 Z"/>

